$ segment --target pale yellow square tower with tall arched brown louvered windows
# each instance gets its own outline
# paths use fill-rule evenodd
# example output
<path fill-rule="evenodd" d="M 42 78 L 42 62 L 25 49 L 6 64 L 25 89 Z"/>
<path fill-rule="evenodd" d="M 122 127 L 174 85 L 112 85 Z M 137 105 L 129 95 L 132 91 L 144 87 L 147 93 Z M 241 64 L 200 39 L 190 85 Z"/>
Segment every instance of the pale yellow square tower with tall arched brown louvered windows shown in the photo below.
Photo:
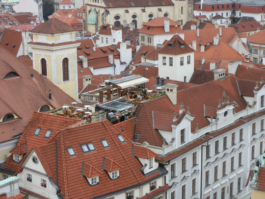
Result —
<path fill-rule="evenodd" d="M 33 68 L 78 100 L 76 30 L 51 18 L 33 29 Z"/>

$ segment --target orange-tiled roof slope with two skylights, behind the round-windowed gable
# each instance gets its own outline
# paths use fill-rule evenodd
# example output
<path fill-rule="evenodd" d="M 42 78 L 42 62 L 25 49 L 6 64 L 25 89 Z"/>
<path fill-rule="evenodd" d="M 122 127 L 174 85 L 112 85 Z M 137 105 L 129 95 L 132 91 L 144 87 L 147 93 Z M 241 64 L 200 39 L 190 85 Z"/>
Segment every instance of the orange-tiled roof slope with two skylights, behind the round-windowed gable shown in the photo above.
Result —
<path fill-rule="evenodd" d="M 18 171 L 26 157 L 28 157 L 32 148 L 47 144 L 49 140 L 52 139 L 60 130 L 69 128 L 82 121 L 83 120 L 34 112 L 23 134 L 17 142 L 16 147 L 11 151 L 12 155 L 9 157 L 5 168 Z M 39 136 L 34 136 L 37 128 L 41 128 Z M 51 134 L 48 139 L 45 138 L 47 130 L 51 130 Z M 19 164 L 13 162 L 13 154 L 24 155 Z"/>

